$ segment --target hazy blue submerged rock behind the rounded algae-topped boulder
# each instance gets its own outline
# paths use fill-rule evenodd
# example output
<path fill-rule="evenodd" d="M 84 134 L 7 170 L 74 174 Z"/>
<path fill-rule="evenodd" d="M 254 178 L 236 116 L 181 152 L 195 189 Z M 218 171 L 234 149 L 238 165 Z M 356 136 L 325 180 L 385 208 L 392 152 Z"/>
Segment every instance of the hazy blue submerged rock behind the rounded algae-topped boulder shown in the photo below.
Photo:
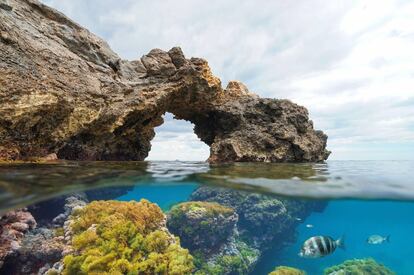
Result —
<path fill-rule="evenodd" d="M 295 227 L 300 221 L 313 211 L 323 210 L 326 205 L 324 202 L 282 199 L 211 187 L 199 187 L 190 199 L 217 202 L 233 208 L 239 216 L 237 228 L 243 239 L 262 252 L 293 241 Z"/>

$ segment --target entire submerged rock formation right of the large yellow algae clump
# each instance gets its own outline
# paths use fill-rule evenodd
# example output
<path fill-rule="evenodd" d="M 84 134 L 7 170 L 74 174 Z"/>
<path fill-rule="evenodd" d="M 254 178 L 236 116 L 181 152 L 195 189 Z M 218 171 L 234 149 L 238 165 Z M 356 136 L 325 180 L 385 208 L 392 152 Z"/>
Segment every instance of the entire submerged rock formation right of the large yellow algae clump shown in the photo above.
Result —
<path fill-rule="evenodd" d="M 312 211 L 321 211 L 326 205 L 323 202 L 282 199 L 206 186 L 195 190 L 190 199 L 194 201 L 171 209 L 167 225 L 173 234 L 182 239 L 183 246 L 190 249 L 200 274 L 254 274 L 254 268 L 260 265 L 264 252 L 270 248 L 282 249 L 293 243 L 295 228 L 300 221 Z M 214 202 L 213 205 L 219 206 L 219 209 L 235 212 L 238 219 L 233 221 L 235 229 L 232 232 L 229 229 L 234 225 L 228 222 L 229 219 L 220 217 L 219 211 L 215 211 L 216 215 L 200 215 L 207 212 L 200 211 L 200 205 L 208 208 L 210 204 L 207 202 Z M 211 220 L 214 226 L 210 225 Z M 215 229 L 223 226 L 228 230 L 221 230 L 223 233 L 218 234 Z M 199 240 L 203 236 L 204 242 Z M 211 249 L 211 243 L 219 237 L 223 238 L 221 247 Z"/>

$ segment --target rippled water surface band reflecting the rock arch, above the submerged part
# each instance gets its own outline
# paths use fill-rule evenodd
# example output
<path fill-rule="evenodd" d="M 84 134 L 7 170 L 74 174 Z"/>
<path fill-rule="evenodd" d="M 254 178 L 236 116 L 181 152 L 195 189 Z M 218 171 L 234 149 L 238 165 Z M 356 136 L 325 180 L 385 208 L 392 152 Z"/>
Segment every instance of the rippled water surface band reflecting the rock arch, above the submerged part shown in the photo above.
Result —
<path fill-rule="evenodd" d="M 150 183 L 198 184 L 303 198 L 414 198 L 412 161 L 316 164 L 66 162 L 0 164 L 0 213 L 76 191 Z"/>

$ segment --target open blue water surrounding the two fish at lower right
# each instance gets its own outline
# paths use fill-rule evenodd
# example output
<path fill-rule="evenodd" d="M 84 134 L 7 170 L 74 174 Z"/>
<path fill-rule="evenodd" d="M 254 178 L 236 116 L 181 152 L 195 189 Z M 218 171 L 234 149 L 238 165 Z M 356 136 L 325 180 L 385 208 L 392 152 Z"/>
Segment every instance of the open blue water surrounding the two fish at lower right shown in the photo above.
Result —
<path fill-rule="evenodd" d="M 258 267 L 258 274 L 267 274 L 274 266 L 287 265 L 308 274 L 323 274 L 326 267 L 353 258 L 372 257 L 399 275 L 414 274 L 414 203 L 391 201 L 331 201 L 322 213 L 313 213 L 297 231 L 297 242 L 282 251 L 269 251 Z M 314 227 L 308 228 L 307 224 Z M 345 235 L 346 250 L 321 259 L 297 256 L 302 243 L 311 236 Z M 366 243 L 372 234 L 391 235 L 390 242 L 380 245 Z"/>

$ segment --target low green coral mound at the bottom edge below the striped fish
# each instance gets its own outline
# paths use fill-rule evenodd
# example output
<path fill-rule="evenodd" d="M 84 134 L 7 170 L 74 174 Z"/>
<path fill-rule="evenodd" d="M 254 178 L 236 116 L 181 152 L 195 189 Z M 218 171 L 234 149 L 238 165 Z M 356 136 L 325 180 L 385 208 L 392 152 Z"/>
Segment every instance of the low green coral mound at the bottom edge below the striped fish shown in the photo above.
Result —
<path fill-rule="evenodd" d="M 325 275 L 395 275 L 396 273 L 386 266 L 377 263 L 374 259 L 354 259 L 332 266 L 324 271 Z"/>

